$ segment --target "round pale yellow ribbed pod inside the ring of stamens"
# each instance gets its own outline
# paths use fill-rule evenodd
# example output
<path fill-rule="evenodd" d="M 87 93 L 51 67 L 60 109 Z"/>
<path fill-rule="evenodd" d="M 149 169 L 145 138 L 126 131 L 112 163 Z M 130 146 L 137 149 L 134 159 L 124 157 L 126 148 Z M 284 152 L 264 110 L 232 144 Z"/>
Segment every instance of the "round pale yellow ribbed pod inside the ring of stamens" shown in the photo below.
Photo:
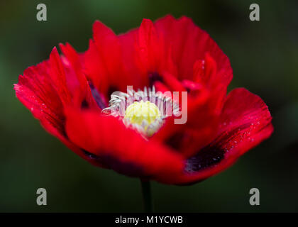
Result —
<path fill-rule="evenodd" d="M 138 125 L 141 125 L 145 120 L 150 125 L 155 119 L 160 118 L 160 111 L 158 106 L 150 101 L 135 101 L 127 107 L 124 118 L 128 118 L 131 123 Z"/>

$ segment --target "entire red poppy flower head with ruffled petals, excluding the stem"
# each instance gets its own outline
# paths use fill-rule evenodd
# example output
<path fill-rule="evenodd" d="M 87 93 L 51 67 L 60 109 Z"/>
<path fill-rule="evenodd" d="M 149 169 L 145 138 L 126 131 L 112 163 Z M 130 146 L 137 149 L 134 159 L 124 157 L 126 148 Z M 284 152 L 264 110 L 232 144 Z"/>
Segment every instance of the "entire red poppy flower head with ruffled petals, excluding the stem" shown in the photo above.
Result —
<path fill-rule="evenodd" d="M 191 184 L 231 166 L 273 131 L 259 96 L 243 88 L 226 95 L 228 57 L 187 17 L 144 19 L 122 35 L 96 21 L 86 52 L 69 44 L 60 49 L 62 55 L 54 48 L 49 60 L 23 72 L 16 96 L 45 130 L 99 167 Z M 127 86 L 140 90 L 130 93 Z M 140 101 L 153 90 L 159 91 L 154 101 Z M 181 96 L 168 91 L 187 92 L 185 123 L 175 123 Z M 126 116 L 133 95 L 138 118 L 136 111 Z M 175 116 L 161 116 L 157 101 L 174 104 Z M 144 106 L 152 117 L 144 116 Z"/>

